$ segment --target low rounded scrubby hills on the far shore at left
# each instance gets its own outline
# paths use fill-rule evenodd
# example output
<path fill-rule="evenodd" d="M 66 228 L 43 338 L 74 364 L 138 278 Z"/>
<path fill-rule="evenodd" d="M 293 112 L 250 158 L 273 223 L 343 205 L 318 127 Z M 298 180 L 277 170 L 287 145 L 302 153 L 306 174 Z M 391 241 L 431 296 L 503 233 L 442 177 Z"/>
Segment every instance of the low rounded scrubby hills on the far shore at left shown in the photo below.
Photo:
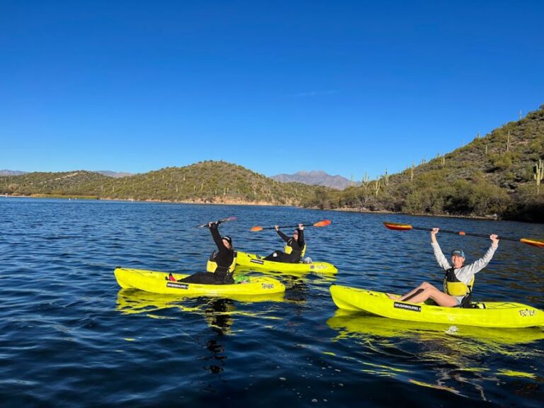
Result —
<path fill-rule="evenodd" d="M 242 166 L 199 162 L 114 179 L 90 171 L 1 176 L 0 193 L 185 203 L 299 205 L 314 187 L 279 183 Z"/>

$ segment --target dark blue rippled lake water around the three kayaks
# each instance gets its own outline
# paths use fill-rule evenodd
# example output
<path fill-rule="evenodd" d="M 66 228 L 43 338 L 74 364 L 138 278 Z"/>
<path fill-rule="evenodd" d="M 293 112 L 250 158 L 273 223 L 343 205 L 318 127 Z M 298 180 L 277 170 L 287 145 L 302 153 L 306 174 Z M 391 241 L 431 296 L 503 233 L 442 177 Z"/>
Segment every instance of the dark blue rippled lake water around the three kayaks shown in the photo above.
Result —
<path fill-rule="evenodd" d="M 283 245 L 254 225 L 307 228 L 336 276 L 275 274 L 283 300 L 183 300 L 120 290 L 115 266 L 203 271 L 220 226 L 236 249 Z M 544 225 L 298 208 L 0 198 L 1 407 L 542 407 L 544 331 L 409 324 L 339 312 L 332 283 L 441 285 L 428 232 L 383 221 L 544 238 Z M 290 229 L 286 229 L 290 233 Z M 475 261 L 490 241 L 438 234 Z M 476 300 L 544 309 L 544 249 L 499 243 Z M 289 405 L 288 405 L 289 404 Z"/>

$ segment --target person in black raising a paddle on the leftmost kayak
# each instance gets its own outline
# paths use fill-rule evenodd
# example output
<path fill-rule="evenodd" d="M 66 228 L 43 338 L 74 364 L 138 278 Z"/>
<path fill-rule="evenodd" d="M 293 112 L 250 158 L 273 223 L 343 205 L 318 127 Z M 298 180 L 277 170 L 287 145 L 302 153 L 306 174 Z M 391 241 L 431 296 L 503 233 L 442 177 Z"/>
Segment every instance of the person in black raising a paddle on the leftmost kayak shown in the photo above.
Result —
<path fill-rule="evenodd" d="M 210 232 L 212 233 L 212 238 L 217 245 L 217 251 L 212 254 L 210 261 L 217 263 L 217 267 L 213 272 L 197 272 L 193 273 L 191 276 L 178 280 L 178 282 L 186 283 L 205 283 L 207 285 L 225 285 L 234 283 L 232 278 L 232 272 L 229 272 L 229 269 L 232 269 L 232 264 L 234 263 L 234 249 L 232 249 L 232 239 L 228 235 L 223 237 L 220 236 L 218 222 L 210 222 L 208 227 L 210 227 Z"/>

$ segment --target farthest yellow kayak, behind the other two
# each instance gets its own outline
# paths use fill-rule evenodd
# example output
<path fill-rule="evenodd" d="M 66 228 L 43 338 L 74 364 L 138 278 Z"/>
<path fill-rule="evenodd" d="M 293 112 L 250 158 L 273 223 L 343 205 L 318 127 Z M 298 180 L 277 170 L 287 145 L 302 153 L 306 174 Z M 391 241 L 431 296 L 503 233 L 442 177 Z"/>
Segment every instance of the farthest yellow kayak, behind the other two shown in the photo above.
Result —
<path fill-rule="evenodd" d="M 332 263 L 328 262 L 310 262 L 310 263 L 287 263 L 265 261 L 259 255 L 248 254 L 247 252 L 238 251 L 236 264 L 251 268 L 254 270 L 263 271 L 278 271 L 278 272 L 295 272 L 295 273 L 336 273 L 338 269 Z"/>

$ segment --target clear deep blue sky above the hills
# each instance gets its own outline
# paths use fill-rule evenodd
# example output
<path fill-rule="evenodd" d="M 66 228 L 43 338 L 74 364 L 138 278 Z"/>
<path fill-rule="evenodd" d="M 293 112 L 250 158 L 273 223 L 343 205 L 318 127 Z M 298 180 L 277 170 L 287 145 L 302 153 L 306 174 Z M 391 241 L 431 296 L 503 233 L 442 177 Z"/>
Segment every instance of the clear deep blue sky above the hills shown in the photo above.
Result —
<path fill-rule="evenodd" d="M 544 1 L 0 0 L 0 169 L 402 171 L 544 103 Z"/>

